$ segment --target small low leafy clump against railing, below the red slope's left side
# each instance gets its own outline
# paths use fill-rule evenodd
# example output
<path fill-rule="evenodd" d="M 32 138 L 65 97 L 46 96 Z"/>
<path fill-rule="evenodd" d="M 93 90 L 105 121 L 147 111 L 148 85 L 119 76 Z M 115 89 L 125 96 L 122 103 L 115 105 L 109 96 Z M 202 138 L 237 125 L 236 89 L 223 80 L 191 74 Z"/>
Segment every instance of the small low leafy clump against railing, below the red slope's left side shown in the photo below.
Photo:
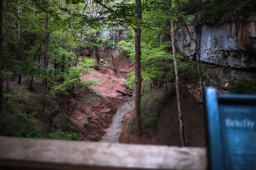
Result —
<path fill-rule="evenodd" d="M 55 140 L 78 140 L 81 141 L 82 139 L 77 138 L 77 133 L 75 132 L 62 132 L 61 130 L 58 130 L 53 133 L 49 133 L 45 137 L 46 139 L 55 139 Z"/>

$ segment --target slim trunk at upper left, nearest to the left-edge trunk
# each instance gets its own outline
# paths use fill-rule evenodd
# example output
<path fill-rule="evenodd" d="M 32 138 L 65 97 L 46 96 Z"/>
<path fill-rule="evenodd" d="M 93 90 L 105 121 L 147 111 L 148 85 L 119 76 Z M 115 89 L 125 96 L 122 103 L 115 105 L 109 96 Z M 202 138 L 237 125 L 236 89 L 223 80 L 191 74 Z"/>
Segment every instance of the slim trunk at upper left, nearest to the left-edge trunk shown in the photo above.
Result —
<path fill-rule="evenodd" d="M 22 9 L 21 9 L 20 4 L 18 6 L 18 13 L 19 13 L 19 17 L 21 17 L 22 16 Z M 23 60 L 24 60 L 24 54 L 23 54 L 23 33 L 22 33 L 21 22 L 19 21 L 19 61 L 23 61 Z M 21 74 L 19 74 L 18 84 L 21 84 Z"/>

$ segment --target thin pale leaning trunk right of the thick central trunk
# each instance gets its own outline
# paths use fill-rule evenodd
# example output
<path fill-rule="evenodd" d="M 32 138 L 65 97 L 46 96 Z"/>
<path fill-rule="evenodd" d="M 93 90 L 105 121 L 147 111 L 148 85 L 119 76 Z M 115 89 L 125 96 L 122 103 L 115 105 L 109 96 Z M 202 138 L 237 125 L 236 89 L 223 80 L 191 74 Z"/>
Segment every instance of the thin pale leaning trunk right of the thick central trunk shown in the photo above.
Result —
<path fill-rule="evenodd" d="M 180 139 L 181 139 L 181 146 L 183 147 L 183 146 L 185 146 L 185 135 L 184 135 L 182 112 L 181 112 L 181 106 L 180 106 L 179 74 L 178 74 L 176 50 L 175 50 L 175 46 L 174 46 L 174 26 L 173 26 L 172 20 L 171 20 L 171 37 L 172 37 L 173 62 L 174 62 L 174 70 L 175 70 L 175 78 L 176 78 L 175 79 L 175 87 L 176 87 L 176 96 L 177 96 L 179 123 L 180 123 Z"/>

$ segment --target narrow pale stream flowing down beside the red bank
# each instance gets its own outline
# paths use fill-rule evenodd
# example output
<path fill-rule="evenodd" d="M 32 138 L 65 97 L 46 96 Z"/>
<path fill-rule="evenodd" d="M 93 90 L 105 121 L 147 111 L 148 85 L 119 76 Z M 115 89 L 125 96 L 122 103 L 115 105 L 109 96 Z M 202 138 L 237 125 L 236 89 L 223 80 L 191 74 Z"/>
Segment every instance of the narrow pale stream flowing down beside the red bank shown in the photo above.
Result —
<path fill-rule="evenodd" d="M 122 131 L 122 118 L 125 113 L 129 110 L 131 105 L 134 103 L 135 98 L 125 102 L 118 107 L 116 114 L 113 116 L 112 124 L 107 129 L 107 133 L 102 137 L 102 142 L 118 143 L 119 135 Z"/>

